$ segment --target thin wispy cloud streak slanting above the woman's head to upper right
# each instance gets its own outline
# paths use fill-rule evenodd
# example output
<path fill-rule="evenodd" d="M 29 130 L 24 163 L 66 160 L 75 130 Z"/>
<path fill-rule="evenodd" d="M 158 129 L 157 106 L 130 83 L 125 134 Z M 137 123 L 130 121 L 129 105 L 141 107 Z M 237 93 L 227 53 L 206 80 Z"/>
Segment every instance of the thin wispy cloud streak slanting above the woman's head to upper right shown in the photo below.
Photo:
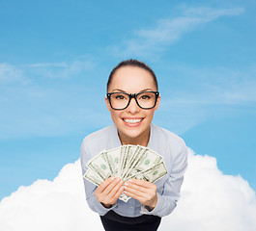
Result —
<path fill-rule="evenodd" d="M 152 52 L 159 52 L 166 45 L 171 45 L 185 33 L 196 27 L 213 21 L 220 16 L 231 16 L 243 13 L 242 8 L 211 9 L 187 8 L 181 16 L 164 18 L 157 21 L 153 29 L 141 29 L 134 32 L 134 37 L 127 39 L 120 46 L 110 47 L 117 56 L 147 57 Z"/>

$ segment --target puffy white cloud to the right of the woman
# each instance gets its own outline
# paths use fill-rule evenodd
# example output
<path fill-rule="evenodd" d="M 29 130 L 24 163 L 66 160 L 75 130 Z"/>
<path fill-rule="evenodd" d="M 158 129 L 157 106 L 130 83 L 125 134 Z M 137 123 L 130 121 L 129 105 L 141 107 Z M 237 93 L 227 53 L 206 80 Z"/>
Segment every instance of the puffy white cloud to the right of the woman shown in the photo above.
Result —
<path fill-rule="evenodd" d="M 256 229 L 255 192 L 241 176 L 224 175 L 210 156 L 189 151 L 182 199 L 176 211 L 162 223 L 177 231 Z"/>

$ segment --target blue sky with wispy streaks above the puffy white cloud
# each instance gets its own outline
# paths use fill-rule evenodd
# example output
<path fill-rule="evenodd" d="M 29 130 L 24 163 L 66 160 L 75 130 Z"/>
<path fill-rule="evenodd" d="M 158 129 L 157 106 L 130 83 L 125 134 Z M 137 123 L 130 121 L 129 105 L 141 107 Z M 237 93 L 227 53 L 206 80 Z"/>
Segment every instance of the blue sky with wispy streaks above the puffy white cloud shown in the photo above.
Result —
<path fill-rule="evenodd" d="M 0 2 L 0 199 L 52 180 L 111 123 L 107 76 L 156 71 L 154 122 L 256 190 L 255 1 Z"/>

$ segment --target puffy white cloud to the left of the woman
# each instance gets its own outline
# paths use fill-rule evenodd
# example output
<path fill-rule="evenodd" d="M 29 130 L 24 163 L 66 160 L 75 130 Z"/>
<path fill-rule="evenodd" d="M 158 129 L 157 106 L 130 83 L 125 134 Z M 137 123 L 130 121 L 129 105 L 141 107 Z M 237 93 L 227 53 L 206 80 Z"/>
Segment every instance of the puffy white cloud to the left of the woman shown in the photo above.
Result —
<path fill-rule="evenodd" d="M 18 177 L 18 174 L 17 174 Z M 0 230 L 103 230 L 89 211 L 78 161 L 62 168 L 51 182 L 38 180 L 0 203 Z"/>

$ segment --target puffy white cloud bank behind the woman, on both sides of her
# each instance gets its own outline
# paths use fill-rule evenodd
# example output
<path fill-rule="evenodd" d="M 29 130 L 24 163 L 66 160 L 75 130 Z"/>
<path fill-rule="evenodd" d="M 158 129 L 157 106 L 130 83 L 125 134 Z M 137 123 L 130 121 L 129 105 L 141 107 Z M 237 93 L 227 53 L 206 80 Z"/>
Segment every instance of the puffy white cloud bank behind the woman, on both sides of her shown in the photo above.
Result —
<path fill-rule="evenodd" d="M 241 176 L 224 175 L 209 156 L 188 149 L 182 198 L 159 231 L 253 231 L 255 192 Z M 17 176 L 18 177 L 18 176 Z M 20 187 L 0 202 L 0 230 L 103 230 L 84 195 L 79 162 L 69 164 L 51 182 Z"/>

